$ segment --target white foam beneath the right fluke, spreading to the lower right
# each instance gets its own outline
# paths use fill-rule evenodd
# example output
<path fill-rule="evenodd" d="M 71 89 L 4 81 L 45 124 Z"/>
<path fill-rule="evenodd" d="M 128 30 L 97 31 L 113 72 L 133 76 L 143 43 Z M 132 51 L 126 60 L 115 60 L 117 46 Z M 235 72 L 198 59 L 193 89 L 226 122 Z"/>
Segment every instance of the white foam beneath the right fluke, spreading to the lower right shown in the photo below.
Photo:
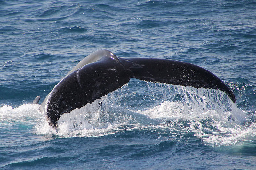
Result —
<path fill-rule="evenodd" d="M 138 110 L 152 119 L 168 118 L 174 124 L 162 128 L 176 129 L 177 120 L 187 120 L 183 129 L 194 132 L 203 142 L 213 146 L 233 145 L 256 137 L 255 124 L 244 126 L 246 114 L 218 90 L 176 86 L 182 102 L 164 101 L 160 105 Z M 227 102 L 228 101 L 228 102 Z M 179 122 L 179 121 L 178 121 Z"/>

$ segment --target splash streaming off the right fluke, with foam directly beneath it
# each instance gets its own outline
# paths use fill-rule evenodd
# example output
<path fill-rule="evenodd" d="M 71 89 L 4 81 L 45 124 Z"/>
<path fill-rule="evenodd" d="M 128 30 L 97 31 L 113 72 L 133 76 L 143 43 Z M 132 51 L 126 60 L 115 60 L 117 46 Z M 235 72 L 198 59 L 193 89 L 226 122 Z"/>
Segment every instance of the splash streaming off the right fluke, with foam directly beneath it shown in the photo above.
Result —
<path fill-rule="evenodd" d="M 150 118 L 184 118 L 194 119 L 214 111 L 220 118 L 228 118 L 230 121 L 243 124 L 246 121 L 245 113 L 219 90 L 196 89 L 193 87 L 173 86 L 176 97 L 170 101 L 164 101 L 151 109 L 138 110 L 137 113 L 145 114 Z M 167 95 L 166 93 L 164 95 Z M 178 97 L 177 97 L 178 96 Z M 166 96 L 166 98 L 169 98 Z M 175 98 L 179 98 L 176 101 Z"/>

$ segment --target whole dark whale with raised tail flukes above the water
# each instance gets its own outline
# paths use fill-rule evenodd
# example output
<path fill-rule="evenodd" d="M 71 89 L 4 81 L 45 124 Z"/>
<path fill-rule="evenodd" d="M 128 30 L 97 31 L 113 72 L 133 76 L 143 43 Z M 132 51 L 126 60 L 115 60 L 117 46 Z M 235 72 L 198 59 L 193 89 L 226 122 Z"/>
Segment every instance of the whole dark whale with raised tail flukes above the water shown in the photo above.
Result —
<path fill-rule="evenodd" d="M 117 57 L 108 50 L 98 50 L 81 60 L 54 86 L 40 105 L 49 125 L 57 128 L 64 113 L 122 87 L 130 78 L 194 88 L 223 91 L 236 102 L 233 91 L 212 72 L 182 61 L 162 58 Z M 37 96 L 33 104 L 38 104 Z"/>

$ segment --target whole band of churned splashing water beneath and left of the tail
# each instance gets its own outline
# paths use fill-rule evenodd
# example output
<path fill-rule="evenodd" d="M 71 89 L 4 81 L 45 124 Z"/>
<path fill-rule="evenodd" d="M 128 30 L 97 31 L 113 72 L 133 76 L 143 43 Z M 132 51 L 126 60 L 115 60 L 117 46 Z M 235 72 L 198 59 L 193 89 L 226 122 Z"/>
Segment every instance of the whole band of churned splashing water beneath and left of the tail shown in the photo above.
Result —
<path fill-rule="evenodd" d="M 132 81 L 132 85 L 126 84 L 92 104 L 61 115 L 57 129 L 49 126 L 44 113 L 38 110 L 39 105 L 2 106 L 0 120 L 5 124 L 33 126 L 36 135 L 58 137 L 151 129 L 169 138 L 193 134 L 212 146 L 256 139 L 255 122 L 246 122 L 246 112 L 221 91 Z"/>

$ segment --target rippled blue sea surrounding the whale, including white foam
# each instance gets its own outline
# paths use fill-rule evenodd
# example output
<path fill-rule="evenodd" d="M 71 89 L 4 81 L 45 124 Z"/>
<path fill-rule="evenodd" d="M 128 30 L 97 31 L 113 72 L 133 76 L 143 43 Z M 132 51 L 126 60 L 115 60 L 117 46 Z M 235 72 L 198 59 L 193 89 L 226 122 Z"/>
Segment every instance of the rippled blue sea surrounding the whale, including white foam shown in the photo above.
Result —
<path fill-rule="evenodd" d="M 0 168 L 255 169 L 256 2 L 0 0 Z M 108 49 L 204 67 L 235 93 L 131 81 L 61 116 L 39 105 Z M 41 101 L 42 102 L 42 101 Z"/>

